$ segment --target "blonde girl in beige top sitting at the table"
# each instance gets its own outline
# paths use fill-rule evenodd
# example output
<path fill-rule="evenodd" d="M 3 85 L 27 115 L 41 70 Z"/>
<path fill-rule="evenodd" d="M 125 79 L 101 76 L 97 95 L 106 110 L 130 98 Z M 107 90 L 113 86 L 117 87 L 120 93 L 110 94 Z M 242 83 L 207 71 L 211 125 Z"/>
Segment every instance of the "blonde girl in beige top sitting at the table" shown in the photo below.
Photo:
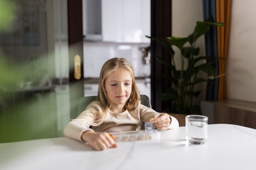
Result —
<path fill-rule="evenodd" d="M 64 135 L 87 142 L 95 150 L 116 148 L 107 132 L 136 131 L 141 121 L 152 122 L 160 131 L 179 127 L 176 118 L 140 104 L 131 64 L 123 58 L 113 58 L 100 71 L 97 101 L 67 124 Z"/>

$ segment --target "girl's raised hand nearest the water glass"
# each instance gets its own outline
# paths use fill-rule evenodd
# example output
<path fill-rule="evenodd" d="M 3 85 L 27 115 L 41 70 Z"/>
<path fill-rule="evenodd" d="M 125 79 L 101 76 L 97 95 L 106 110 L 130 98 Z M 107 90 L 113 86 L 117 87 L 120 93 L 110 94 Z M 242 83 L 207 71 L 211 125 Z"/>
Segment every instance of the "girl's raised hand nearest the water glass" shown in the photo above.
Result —
<path fill-rule="evenodd" d="M 170 126 L 172 118 L 167 113 L 161 113 L 159 115 L 154 115 L 153 118 L 150 118 L 149 122 L 160 131 L 165 131 Z"/>

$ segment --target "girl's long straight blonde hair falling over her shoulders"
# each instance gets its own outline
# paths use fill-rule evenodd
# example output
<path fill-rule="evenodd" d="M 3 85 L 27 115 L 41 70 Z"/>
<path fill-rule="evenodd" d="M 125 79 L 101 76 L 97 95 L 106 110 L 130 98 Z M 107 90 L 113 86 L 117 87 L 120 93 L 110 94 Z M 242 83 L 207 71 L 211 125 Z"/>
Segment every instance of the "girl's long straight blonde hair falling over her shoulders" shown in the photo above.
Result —
<path fill-rule="evenodd" d="M 118 68 L 127 69 L 127 71 L 129 71 L 132 77 L 131 96 L 125 103 L 125 106 L 124 106 L 125 109 L 134 110 L 136 107 L 138 107 L 138 104 L 140 101 L 140 93 L 136 86 L 134 71 L 132 69 L 131 64 L 124 58 L 109 59 L 103 64 L 101 68 L 100 78 L 99 78 L 98 97 L 97 97 L 97 101 L 93 102 L 99 105 L 100 108 L 91 107 L 92 109 L 90 109 L 90 113 L 92 113 L 94 117 L 94 121 L 93 121 L 94 123 L 92 124 L 94 126 L 102 124 L 102 122 L 104 122 L 106 118 L 107 112 L 110 107 L 110 103 L 109 103 L 108 95 L 106 94 L 105 82 L 109 74 L 111 74 L 113 71 L 115 71 Z M 89 112 L 89 110 L 86 110 L 86 112 L 87 111 Z"/>

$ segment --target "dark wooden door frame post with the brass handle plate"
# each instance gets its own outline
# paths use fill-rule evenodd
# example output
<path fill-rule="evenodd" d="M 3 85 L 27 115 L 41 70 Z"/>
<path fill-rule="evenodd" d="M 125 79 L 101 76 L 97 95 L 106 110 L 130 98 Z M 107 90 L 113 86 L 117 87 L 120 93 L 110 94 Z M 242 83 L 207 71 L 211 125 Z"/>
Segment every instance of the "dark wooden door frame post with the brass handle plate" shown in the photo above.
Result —
<path fill-rule="evenodd" d="M 68 0 L 69 94 L 70 118 L 78 115 L 79 99 L 84 97 L 83 69 L 83 1 Z M 74 57 L 81 57 L 81 78 L 74 76 Z"/>

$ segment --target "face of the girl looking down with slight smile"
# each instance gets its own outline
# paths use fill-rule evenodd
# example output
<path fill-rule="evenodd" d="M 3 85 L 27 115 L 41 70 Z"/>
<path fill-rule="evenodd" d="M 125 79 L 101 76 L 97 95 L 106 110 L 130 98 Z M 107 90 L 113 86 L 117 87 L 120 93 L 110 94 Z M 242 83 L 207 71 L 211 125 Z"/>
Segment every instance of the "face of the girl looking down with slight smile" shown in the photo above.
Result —
<path fill-rule="evenodd" d="M 124 105 L 131 96 L 132 76 L 125 68 L 118 68 L 109 74 L 105 89 L 111 107 Z"/>

